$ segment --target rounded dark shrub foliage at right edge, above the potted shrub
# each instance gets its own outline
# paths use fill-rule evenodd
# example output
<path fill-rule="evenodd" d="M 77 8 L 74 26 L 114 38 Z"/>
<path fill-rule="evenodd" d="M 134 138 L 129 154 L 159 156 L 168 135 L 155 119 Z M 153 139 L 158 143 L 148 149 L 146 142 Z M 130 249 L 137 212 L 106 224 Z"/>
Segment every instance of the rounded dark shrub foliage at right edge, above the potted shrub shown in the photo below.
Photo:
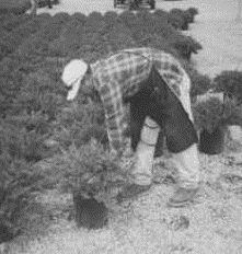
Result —
<path fill-rule="evenodd" d="M 214 79 L 216 92 L 224 92 L 229 97 L 235 99 L 238 103 L 242 102 L 242 72 L 222 71 Z"/>

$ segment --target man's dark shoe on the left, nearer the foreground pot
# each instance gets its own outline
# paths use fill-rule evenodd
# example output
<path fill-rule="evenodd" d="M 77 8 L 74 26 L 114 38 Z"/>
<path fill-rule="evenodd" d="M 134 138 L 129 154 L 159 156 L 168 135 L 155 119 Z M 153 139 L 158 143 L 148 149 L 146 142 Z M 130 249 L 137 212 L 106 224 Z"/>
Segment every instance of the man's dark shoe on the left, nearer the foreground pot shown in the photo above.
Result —
<path fill-rule="evenodd" d="M 140 194 L 148 192 L 151 187 L 150 185 L 138 185 L 138 184 L 129 184 L 117 195 L 117 203 L 120 204 L 124 199 L 134 198 L 139 196 Z"/>

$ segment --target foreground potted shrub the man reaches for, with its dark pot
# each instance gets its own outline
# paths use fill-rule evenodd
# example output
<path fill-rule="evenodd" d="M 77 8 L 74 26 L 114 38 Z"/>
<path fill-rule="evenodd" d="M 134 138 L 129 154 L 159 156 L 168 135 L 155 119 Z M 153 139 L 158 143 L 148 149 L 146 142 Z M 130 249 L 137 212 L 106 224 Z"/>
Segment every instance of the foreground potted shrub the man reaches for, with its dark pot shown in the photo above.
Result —
<path fill-rule="evenodd" d="M 122 171 L 118 161 L 92 140 L 79 149 L 72 146 L 64 151 L 55 164 L 60 188 L 72 192 L 77 227 L 106 226 L 117 192 L 127 182 L 127 172 Z"/>

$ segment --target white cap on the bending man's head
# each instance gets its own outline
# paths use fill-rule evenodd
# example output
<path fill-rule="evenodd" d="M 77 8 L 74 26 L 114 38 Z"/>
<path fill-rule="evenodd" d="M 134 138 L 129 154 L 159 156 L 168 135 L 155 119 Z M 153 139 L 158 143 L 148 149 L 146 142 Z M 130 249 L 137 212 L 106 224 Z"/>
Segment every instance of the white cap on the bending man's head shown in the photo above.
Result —
<path fill-rule="evenodd" d="M 88 64 L 81 59 L 73 59 L 64 68 L 61 80 L 67 86 L 71 88 L 67 95 L 68 101 L 72 101 L 77 96 L 87 70 Z"/>

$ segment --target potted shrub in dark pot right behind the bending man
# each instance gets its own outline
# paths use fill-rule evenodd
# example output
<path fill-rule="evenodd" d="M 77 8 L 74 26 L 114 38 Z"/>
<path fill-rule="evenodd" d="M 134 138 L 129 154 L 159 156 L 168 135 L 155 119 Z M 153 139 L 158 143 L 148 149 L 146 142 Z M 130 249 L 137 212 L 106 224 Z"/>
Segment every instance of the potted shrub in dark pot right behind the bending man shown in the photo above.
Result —
<path fill-rule="evenodd" d="M 207 154 L 218 154 L 224 149 L 224 138 L 229 125 L 241 125 L 241 107 L 234 100 L 216 96 L 193 105 L 195 125 L 199 132 L 199 150 Z"/>

